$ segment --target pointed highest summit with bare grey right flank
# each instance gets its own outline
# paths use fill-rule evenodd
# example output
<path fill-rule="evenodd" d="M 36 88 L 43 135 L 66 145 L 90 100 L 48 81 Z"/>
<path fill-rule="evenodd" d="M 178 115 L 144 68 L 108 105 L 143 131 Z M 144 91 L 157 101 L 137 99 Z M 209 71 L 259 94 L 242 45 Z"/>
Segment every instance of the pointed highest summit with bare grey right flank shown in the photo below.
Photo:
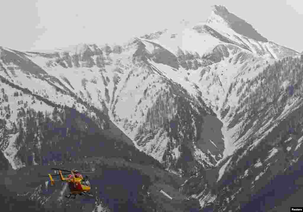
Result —
<path fill-rule="evenodd" d="M 228 12 L 227 8 L 222 5 L 213 5 L 210 17 L 206 20 L 208 24 L 224 24 L 229 28 L 244 35 L 248 38 L 252 38 L 256 41 L 267 42 L 268 40 L 260 35 L 249 23 L 239 18 L 238 16 Z"/>

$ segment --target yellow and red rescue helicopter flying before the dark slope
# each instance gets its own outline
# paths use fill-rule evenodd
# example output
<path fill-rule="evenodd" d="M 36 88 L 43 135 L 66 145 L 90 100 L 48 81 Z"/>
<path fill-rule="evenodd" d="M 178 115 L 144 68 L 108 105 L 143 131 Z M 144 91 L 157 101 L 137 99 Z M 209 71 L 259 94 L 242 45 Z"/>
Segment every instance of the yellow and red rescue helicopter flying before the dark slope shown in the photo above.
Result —
<path fill-rule="evenodd" d="M 52 168 L 52 170 L 56 170 L 59 174 L 48 174 L 44 175 L 42 177 L 49 177 L 51 180 L 51 185 L 55 185 L 55 182 L 58 181 L 65 181 L 68 182 L 68 187 L 70 190 L 69 196 L 64 195 L 67 198 L 71 198 L 72 195 L 74 195 L 74 198 L 76 198 L 76 195 L 79 194 L 80 196 L 85 195 L 89 197 L 93 197 L 92 194 L 89 194 L 89 191 L 91 190 L 91 185 L 88 181 L 88 176 L 85 176 L 85 179 L 83 178 L 83 173 L 92 173 L 88 171 L 77 171 L 77 170 L 65 170 L 65 169 L 58 169 L 58 168 Z M 62 173 L 65 172 L 65 173 Z M 69 174 L 68 177 L 63 177 L 63 175 Z M 60 180 L 54 180 L 53 176 L 60 176 Z"/>

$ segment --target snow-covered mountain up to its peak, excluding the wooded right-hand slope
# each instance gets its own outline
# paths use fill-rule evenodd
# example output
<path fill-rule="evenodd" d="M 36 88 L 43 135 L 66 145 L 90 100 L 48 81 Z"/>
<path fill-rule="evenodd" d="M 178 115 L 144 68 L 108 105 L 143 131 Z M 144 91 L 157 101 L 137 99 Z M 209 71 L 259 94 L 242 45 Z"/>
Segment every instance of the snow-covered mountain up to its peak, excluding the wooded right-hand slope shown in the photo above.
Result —
<path fill-rule="evenodd" d="M 206 22 L 181 22 L 172 30 L 135 38 L 125 46 L 79 44 L 46 53 L 1 48 L 0 75 L 7 82 L 3 88 L 8 93 L 3 95 L 10 99 L 18 90 L 10 88 L 15 85 L 79 112 L 94 107 L 136 147 L 161 162 L 165 158 L 168 166 L 176 165 L 181 144 L 186 143 L 183 148 L 194 161 L 209 167 L 232 147 L 222 139 L 228 135 L 218 136 L 220 118 L 208 106 L 215 111 L 234 108 L 237 98 L 228 94 L 231 83 L 258 75 L 275 59 L 296 54 L 263 38 L 225 7 L 214 6 Z M 14 96 L 2 103 L 12 110 L 7 129 L 12 128 L 10 122 L 18 125 L 17 111 L 22 107 L 18 98 L 33 102 L 30 99 L 35 97 Z M 32 107 L 53 109 L 43 103 Z M 93 110 L 91 116 L 97 116 Z M 206 140 L 205 121 L 213 123 L 207 127 L 214 129 Z M 14 136 L 8 143 L 12 142 Z M 12 155 L 9 144 L 10 148 L 3 148 L 5 155 Z M 17 160 L 11 157 L 10 161 Z"/>

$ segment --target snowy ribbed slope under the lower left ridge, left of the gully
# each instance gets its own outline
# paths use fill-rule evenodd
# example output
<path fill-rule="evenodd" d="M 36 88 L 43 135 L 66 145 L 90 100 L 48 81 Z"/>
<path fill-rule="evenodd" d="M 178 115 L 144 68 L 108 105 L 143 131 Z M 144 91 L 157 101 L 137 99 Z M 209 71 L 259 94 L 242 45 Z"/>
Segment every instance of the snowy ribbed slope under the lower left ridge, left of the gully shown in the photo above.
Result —
<path fill-rule="evenodd" d="M 176 154 L 177 157 L 170 159 L 176 161 L 178 155 L 179 157 L 181 155 L 181 141 L 188 139 L 178 136 L 185 137 L 188 131 L 200 128 L 202 125 L 200 115 L 202 113 L 210 114 L 211 111 L 202 100 L 196 100 L 180 84 L 168 78 L 169 72 L 159 71 L 155 66 L 154 61 L 157 58 L 163 58 L 164 54 L 167 54 L 165 51 L 160 51 L 158 54 L 153 53 L 153 58 L 147 59 L 146 55 L 141 52 L 142 45 L 144 44 L 141 41 L 135 41 L 124 47 L 123 51 L 121 48 L 115 47 L 113 47 L 114 50 L 111 50 L 109 46 L 101 49 L 95 45 L 79 45 L 54 53 L 20 53 L 2 48 L 2 72 L 0 74 L 7 83 L 4 86 L 28 89 L 29 93 L 40 98 L 45 98 L 55 104 L 67 105 L 80 112 L 87 113 L 87 108 L 91 108 L 92 112 L 88 114 L 90 117 L 100 118 L 99 116 L 102 116 L 103 119 L 99 123 L 102 129 L 108 128 L 107 125 L 110 123 L 104 119 L 107 117 L 112 119 L 122 131 L 128 134 L 128 137 L 135 141 L 138 148 L 145 150 L 159 161 L 162 161 L 170 137 L 170 142 L 174 143 L 172 145 L 175 147 L 172 149 L 173 153 L 167 152 L 166 154 Z M 117 49 L 121 51 L 117 51 Z M 163 50 L 162 47 L 160 49 Z M 142 60 L 142 57 L 145 57 L 146 60 Z M 173 55 L 172 59 L 174 60 L 174 58 L 177 61 Z M 27 68 L 28 64 L 32 65 L 33 69 Z M 162 69 L 170 70 L 171 67 L 167 66 Z M 15 91 L 9 90 L 11 93 L 8 95 L 12 96 Z M 19 98 L 22 99 L 22 97 Z M 156 102 L 162 101 L 163 98 L 169 100 L 171 106 L 168 107 L 170 112 L 164 113 L 164 116 L 160 117 Z M 12 101 L 17 102 L 15 99 Z M 180 103 L 176 101 L 180 101 Z M 183 114 L 176 114 L 178 110 L 181 110 L 183 101 L 188 102 L 187 104 L 191 106 L 192 109 L 188 113 L 193 113 L 193 117 L 189 118 L 188 127 L 184 128 L 180 135 L 178 132 L 168 135 L 169 129 L 171 129 L 169 125 L 172 125 L 171 120 L 180 119 L 176 121 L 175 127 L 184 125 Z M 7 104 L 11 104 L 11 108 L 14 107 L 12 110 L 18 110 L 15 104 L 10 102 Z M 52 109 L 50 108 L 50 111 Z M 44 108 L 36 111 L 38 110 L 45 111 Z M 151 115 L 155 112 L 158 114 L 157 116 Z M 197 118 L 199 119 L 197 120 Z M 20 118 L 12 116 L 8 119 L 18 125 Z M 197 120 L 196 123 L 195 120 Z M 194 124 L 194 128 L 192 128 L 192 124 Z M 8 126 L 7 128 L 9 129 Z M 115 132 L 109 131 L 109 134 L 111 133 Z M 123 133 L 116 136 L 123 136 Z M 189 139 L 194 141 L 198 136 L 197 133 L 191 132 Z M 10 143 L 13 144 L 15 137 L 13 135 L 11 137 Z M 182 140 L 180 141 L 180 139 Z M 191 151 L 195 151 L 192 145 L 184 147 L 193 148 L 186 154 L 191 155 Z M 3 151 L 8 151 L 8 149 L 12 151 L 12 148 L 8 147 Z M 15 151 L 18 151 L 17 149 Z M 200 151 L 200 157 L 201 153 Z M 13 161 L 15 155 L 12 153 L 10 155 L 10 161 Z M 203 158 L 207 157 L 203 156 Z M 200 161 L 200 163 L 202 162 Z M 16 164 L 12 165 L 17 167 Z"/>

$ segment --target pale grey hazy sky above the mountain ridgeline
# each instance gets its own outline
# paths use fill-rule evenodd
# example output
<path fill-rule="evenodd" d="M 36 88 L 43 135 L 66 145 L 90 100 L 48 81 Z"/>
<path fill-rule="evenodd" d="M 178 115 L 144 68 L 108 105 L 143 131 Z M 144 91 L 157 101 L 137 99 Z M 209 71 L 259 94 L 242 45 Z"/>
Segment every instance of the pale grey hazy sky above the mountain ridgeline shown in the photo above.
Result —
<path fill-rule="evenodd" d="M 79 3 L 78 3 L 79 2 Z M 17 50 L 66 47 L 81 42 L 120 44 L 186 21 L 205 21 L 211 5 L 224 5 L 261 35 L 303 51 L 300 0 L 107 0 L 5 1 L 0 46 Z"/>

